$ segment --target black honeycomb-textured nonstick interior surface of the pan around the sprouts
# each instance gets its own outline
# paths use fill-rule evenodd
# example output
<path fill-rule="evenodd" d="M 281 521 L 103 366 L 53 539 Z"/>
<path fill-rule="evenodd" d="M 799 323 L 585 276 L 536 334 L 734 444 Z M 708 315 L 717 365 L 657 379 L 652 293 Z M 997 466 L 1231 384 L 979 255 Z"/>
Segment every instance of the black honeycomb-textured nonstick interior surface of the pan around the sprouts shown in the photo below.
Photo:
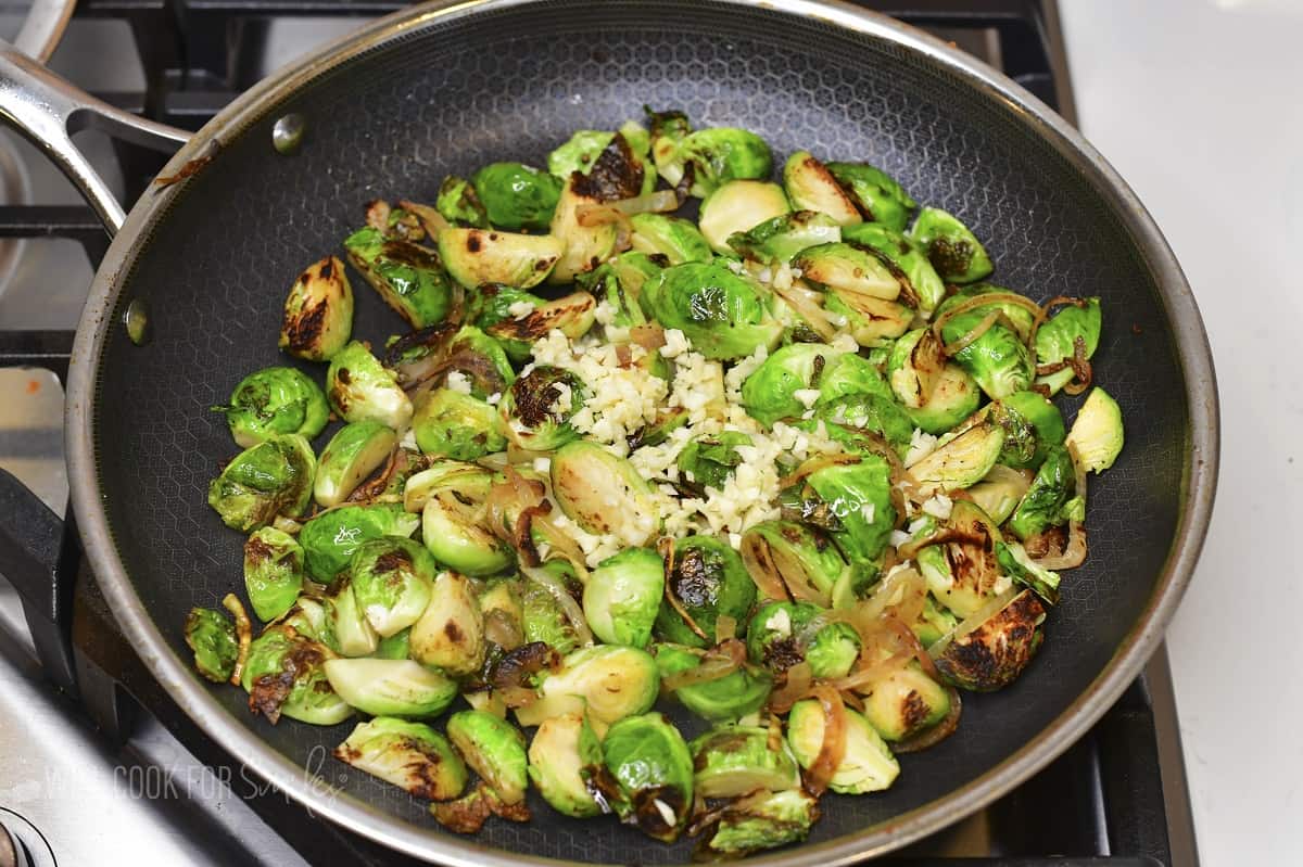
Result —
<path fill-rule="evenodd" d="M 1102 299 L 1096 381 L 1121 402 L 1127 444 L 1111 471 L 1091 479 L 1089 561 L 1065 574 L 1044 650 L 1022 680 L 966 695 L 958 733 L 903 756 L 891 790 L 825 799 L 812 840 L 830 840 L 971 782 L 1076 702 L 1154 591 L 1190 456 L 1156 279 L 1105 197 L 1012 108 L 912 52 L 773 10 L 589 0 L 423 29 L 310 83 L 222 142 L 134 259 L 122 303 L 143 299 L 152 338 L 134 346 L 113 328 L 103 354 L 94 424 L 104 508 L 137 592 L 185 655 L 186 611 L 242 594 L 244 538 L 205 501 L 237 449 L 208 407 L 248 372 L 287 363 L 276 333 L 294 276 L 340 253 L 370 199 L 433 202 L 444 174 L 493 160 L 542 165 L 575 129 L 614 129 L 644 104 L 680 108 L 696 126 L 753 129 L 777 165 L 797 148 L 880 165 L 919 202 L 973 228 L 997 263 L 993 281 L 1037 299 Z M 281 156 L 270 130 L 288 111 L 305 116 L 308 131 L 297 154 Z M 353 285 L 357 336 L 380 345 L 403 329 L 357 275 Z M 322 380 L 323 366 L 300 366 Z M 1072 411 L 1065 405 L 1068 420 Z M 272 726 L 249 713 L 241 690 L 212 689 L 233 717 L 326 781 L 434 825 L 423 803 L 328 758 L 349 724 Z M 572 820 L 530 803 L 533 823 L 495 819 L 478 842 L 576 860 L 688 857 L 687 842 L 667 847 L 614 819 Z"/>

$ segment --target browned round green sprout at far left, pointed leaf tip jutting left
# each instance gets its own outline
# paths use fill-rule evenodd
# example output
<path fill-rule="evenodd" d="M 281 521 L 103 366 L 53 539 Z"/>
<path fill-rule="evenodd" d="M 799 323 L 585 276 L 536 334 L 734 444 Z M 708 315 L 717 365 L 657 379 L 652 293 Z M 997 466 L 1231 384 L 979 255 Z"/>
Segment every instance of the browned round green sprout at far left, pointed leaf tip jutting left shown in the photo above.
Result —
<path fill-rule="evenodd" d="M 265 367 L 249 374 L 231 392 L 231 404 L 212 409 L 225 414 L 231 436 L 242 449 L 284 434 L 310 440 L 330 417 L 322 389 L 293 367 Z"/>

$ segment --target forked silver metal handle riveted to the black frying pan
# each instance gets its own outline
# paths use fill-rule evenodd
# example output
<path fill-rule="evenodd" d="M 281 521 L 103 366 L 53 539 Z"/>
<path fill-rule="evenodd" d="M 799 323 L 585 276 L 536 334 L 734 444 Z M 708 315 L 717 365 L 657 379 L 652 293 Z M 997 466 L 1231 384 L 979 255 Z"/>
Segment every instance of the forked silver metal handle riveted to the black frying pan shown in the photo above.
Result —
<path fill-rule="evenodd" d="M 72 135 L 98 129 L 134 144 L 172 152 L 185 143 L 185 130 L 137 117 L 83 92 L 7 42 L 0 42 L 0 120 L 44 151 L 81 191 L 109 236 L 122 228 L 126 213 L 73 144 Z"/>

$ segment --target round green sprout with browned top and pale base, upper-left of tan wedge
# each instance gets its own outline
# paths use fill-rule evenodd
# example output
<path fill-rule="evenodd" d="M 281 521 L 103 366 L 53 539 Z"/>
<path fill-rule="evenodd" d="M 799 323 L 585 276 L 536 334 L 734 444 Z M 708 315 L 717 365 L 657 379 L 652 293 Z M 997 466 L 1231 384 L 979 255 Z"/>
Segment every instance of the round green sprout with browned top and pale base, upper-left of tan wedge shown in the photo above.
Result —
<path fill-rule="evenodd" d="M 438 570 L 429 551 L 397 536 L 364 542 L 349 566 L 358 608 L 382 638 L 421 617 Z"/>

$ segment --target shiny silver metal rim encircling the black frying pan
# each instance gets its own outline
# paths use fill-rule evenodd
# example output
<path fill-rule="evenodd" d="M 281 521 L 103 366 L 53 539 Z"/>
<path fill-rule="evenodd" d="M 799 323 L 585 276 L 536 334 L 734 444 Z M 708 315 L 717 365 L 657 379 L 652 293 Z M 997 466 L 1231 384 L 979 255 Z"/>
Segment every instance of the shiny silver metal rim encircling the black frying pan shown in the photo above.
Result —
<path fill-rule="evenodd" d="M 1208 337 L 1190 285 L 1153 219 L 1113 167 L 1080 133 L 1036 96 L 1002 73 L 920 30 L 842 0 L 722 1 L 744 8 L 765 8 L 818 18 L 874 39 L 895 43 L 925 56 L 1024 117 L 1028 129 L 1045 138 L 1104 195 L 1157 276 L 1160 299 L 1173 328 L 1190 407 L 1190 461 L 1183 471 L 1182 486 L 1184 504 L 1173 547 L 1154 592 L 1139 614 L 1136 627 L 1117 648 L 1109 664 L 1089 689 L 1033 739 L 969 784 L 863 832 L 748 859 L 754 864 L 834 867 L 882 855 L 920 840 L 1006 794 L 1085 734 L 1139 676 L 1162 640 L 1166 626 L 1188 586 L 1212 516 L 1220 443 L 1216 376 Z M 186 161 L 205 154 L 208 142 L 220 141 L 228 133 L 241 130 L 258 118 L 266 105 L 377 46 L 437 20 L 459 18 L 526 3 L 529 0 L 433 0 L 370 22 L 245 91 L 192 137 L 162 174 L 177 173 Z M 438 860 L 451 867 L 576 863 L 489 849 L 474 838 L 459 838 L 434 827 L 416 825 L 347 793 L 330 789 L 321 780 L 305 775 L 297 763 L 270 749 L 255 733 L 229 717 L 212 694 L 193 677 L 154 625 L 117 555 L 107 514 L 102 508 L 103 492 L 94 450 L 94 396 L 106 338 L 115 324 L 113 311 L 119 296 L 126 286 L 125 275 L 139 251 L 142 240 L 147 237 L 147 229 L 152 225 L 155 215 L 165 208 L 176 194 L 176 186 L 168 187 L 159 194 L 143 197 L 132 208 L 95 275 L 77 329 L 69 368 L 65 448 L 72 501 L 85 551 L 119 625 L 151 674 L 195 720 L 206 736 L 216 741 L 229 755 L 240 756 L 246 767 L 289 797 L 310 806 L 314 812 L 396 851 Z M 323 791 L 330 797 L 323 798 Z"/>

